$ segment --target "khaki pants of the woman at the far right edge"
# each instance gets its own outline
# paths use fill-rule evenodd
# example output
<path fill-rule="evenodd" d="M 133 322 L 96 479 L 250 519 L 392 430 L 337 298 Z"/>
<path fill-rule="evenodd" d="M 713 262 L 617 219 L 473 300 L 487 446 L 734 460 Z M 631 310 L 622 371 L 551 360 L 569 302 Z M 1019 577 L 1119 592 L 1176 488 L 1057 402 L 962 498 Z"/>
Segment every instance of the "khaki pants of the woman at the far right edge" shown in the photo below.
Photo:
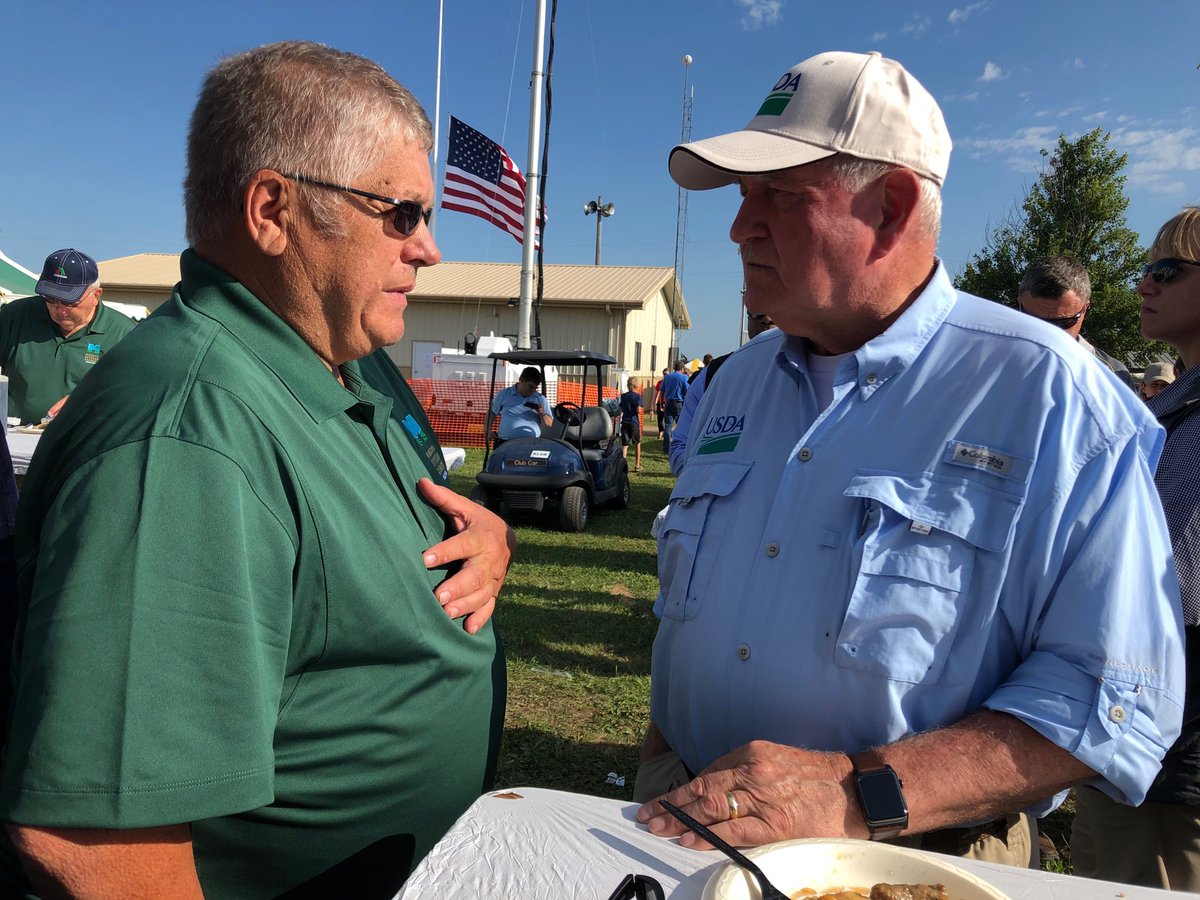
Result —
<path fill-rule="evenodd" d="M 1200 808 L 1127 806 L 1091 787 L 1075 791 L 1075 875 L 1168 890 L 1200 890 Z"/>

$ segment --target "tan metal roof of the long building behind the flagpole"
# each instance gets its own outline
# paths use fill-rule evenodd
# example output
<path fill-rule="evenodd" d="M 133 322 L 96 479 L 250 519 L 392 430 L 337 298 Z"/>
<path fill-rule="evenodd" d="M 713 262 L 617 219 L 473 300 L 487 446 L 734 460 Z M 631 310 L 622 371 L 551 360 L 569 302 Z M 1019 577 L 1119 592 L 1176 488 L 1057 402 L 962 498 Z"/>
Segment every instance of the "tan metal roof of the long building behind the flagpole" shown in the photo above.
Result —
<path fill-rule="evenodd" d="M 100 264 L 100 281 L 107 288 L 169 293 L 179 281 L 179 256 L 138 253 L 106 259 Z M 670 266 L 652 265 L 547 265 L 542 304 L 617 306 L 641 308 L 660 290 L 667 301 L 678 282 Z M 414 300 L 457 302 L 491 300 L 506 302 L 521 294 L 521 266 L 517 263 L 446 263 L 426 269 L 416 280 Z M 691 317 L 679 292 L 679 326 L 691 328 Z"/>

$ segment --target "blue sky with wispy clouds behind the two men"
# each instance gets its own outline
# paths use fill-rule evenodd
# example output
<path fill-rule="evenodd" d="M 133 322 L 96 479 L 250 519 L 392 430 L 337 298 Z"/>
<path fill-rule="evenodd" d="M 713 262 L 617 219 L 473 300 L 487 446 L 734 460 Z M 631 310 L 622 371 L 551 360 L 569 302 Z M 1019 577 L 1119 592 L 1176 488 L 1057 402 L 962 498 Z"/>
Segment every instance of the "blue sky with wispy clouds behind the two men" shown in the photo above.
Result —
<path fill-rule="evenodd" d="M 446 0 L 442 140 L 454 114 L 524 169 L 533 0 Z M 40 269 L 53 250 L 98 259 L 184 247 L 187 118 L 222 55 L 286 38 L 374 59 L 431 116 L 438 7 L 349 0 L 80 2 L 47 14 L 14 0 L 0 32 L 0 250 Z M 952 272 L 1009 214 L 1060 132 L 1111 131 L 1129 152 L 1129 224 L 1148 242 L 1200 202 L 1198 0 L 564 0 L 556 31 L 547 263 L 593 260 L 602 194 L 606 264 L 671 265 L 683 54 L 692 133 L 742 127 L 778 77 L 828 49 L 878 49 L 942 104 L 955 142 L 941 256 Z M 445 158 L 444 146 L 439 152 Z M 740 268 L 728 241 L 734 188 L 692 193 L 684 295 L 689 355 L 737 346 Z M 481 220 L 442 212 L 446 259 L 520 262 Z"/>

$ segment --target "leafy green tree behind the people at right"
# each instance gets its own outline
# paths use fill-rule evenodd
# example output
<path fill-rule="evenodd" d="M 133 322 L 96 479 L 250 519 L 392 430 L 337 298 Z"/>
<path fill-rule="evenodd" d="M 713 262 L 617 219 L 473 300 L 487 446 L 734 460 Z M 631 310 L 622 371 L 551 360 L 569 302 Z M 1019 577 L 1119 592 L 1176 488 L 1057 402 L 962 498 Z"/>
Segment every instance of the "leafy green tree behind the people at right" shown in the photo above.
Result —
<path fill-rule="evenodd" d="M 1141 336 L 1141 299 L 1134 286 L 1146 251 L 1126 224 L 1128 154 L 1109 146 L 1099 128 L 1058 136 L 1019 211 L 995 228 L 955 278 L 960 290 L 1016 306 L 1018 287 L 1038 257 L 1078 259 L 1092 276 L 1086 337 L 1114 356 L 1145 362 L 1166 348 Z M 1169 352 L 1169 350 L 1166 350 Z"/>

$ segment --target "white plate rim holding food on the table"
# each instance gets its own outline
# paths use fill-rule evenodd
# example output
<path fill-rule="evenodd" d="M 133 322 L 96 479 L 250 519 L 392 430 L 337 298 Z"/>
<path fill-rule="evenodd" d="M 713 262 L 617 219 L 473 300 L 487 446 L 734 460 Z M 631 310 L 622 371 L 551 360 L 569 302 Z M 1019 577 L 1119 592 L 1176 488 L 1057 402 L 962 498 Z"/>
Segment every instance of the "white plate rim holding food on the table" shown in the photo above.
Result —
<path fill-rule="evenodd" d="M 952 900 L 1009 898 L 935 853 L 871 841 L 821 838 L 767 844 L 745 851 L 772 883 L 792 895 L 803 888 L 870 888 L 872 884 L 944 884 Z M 703 900 L 760 900 L 758 883 L 733 863 L 718 869 Z"/>

